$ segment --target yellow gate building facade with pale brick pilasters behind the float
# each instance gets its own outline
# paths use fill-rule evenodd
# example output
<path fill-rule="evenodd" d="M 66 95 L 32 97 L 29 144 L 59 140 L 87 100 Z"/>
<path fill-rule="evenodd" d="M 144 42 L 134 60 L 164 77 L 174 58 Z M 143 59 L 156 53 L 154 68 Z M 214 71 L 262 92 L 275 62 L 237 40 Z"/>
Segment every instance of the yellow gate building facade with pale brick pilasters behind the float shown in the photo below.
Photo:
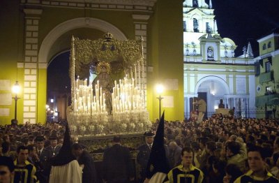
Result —
<path fill-rule="evenodd" d="M 163 93 L 165 119 L 183 119 L 182 6 L 167 0 L 1 1 L 0 123 L 10 124 L 15 116 L 16 81 L 19 123 L 45 123 L 47 66 L 70 50 L 72 36 L 98 39 L 107 31 L 119 40 L 144 38 L 149 119 L 158 118 L 154 86 L 159 82 L 174 82 Z"/>

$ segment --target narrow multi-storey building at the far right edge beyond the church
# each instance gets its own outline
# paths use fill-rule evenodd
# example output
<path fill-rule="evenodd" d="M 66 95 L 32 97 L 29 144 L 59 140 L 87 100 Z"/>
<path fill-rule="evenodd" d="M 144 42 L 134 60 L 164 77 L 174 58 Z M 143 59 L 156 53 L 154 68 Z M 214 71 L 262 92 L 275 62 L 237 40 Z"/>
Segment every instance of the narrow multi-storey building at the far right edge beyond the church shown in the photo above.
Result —
<path fill-rule="evenodd" d="M 259 38 L 259 57 L 255 58 L 256 107 L 266 118 L 279 116 L 279 29 Z"/>

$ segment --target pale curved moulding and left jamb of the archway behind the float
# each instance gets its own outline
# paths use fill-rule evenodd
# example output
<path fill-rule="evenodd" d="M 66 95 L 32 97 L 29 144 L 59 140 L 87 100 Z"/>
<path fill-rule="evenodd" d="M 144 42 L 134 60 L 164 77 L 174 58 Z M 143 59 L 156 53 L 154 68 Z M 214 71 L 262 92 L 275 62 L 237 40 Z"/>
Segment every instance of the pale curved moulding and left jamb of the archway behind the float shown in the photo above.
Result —
<path fill-rule="evenodd" d="M 45 104 L 47 103 L 47 101 L 45 96 L 47 96 L 47 65 L 50 63 L 52 59 L 54 59 L 54 55 L 50 54 L 52 46 L 56 43 L 56 40 L 59 39 L 62 35 L 66 34 L 68 31 L 79 28 L 96 29 L 99 31 L 103 31 L 104 33 L 108 31 L 111 34 L 113 34 L 114 38 L 116 39 L 122 41 L 127 40 L 123 32 L 120 31 L 120 29 L 115 27 L 113 24 L 91 17 L 81 17 L 72 20 L 67 20 L 66 22 L 62 22 L 61 24 L 54 27 L 54 29 L 52 29 L 43 39 L 43 42 L 40 45 L 40 49 L 38 52 L 39 69 L 37 73 L 38 87 L 36 88 L 36 93 L 38 94 L 38 97 L 33 102 L 38 103 L 37 111 L 38 120 L 40 122 L 43 122 L 43 119 L 45 119 L 46 117 Z"/>

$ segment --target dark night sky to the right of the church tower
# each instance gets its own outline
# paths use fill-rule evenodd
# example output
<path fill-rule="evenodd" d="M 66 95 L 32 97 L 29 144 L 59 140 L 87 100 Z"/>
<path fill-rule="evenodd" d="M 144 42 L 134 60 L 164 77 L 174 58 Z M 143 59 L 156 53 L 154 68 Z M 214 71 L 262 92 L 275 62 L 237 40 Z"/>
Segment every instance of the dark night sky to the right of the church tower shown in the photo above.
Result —
<path fill-rule="evenodd" d="M 220 36 L 239 46 L 236 57 L 248 41 L 258 56 L 257 39 L 279 27 L 279 0 L 212 0 L 212 4 Z"/>

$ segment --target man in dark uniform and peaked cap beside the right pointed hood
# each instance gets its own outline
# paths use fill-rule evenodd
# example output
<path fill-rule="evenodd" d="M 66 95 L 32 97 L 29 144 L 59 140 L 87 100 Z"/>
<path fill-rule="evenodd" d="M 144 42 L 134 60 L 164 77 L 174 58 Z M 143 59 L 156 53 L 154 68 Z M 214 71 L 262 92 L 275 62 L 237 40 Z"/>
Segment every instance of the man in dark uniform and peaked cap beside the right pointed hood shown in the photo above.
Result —
<path fill-rule="evenodd" d="M 146 178 L 146 166 L 153 145 L 154 133 L 152 131 L 146 131 L 144 133 L 144 138 L 145 143 L 137 149 L 139 151 L 137 154 L 137 163 L 140 164 L 140 182 L 144 182 Z"/>

